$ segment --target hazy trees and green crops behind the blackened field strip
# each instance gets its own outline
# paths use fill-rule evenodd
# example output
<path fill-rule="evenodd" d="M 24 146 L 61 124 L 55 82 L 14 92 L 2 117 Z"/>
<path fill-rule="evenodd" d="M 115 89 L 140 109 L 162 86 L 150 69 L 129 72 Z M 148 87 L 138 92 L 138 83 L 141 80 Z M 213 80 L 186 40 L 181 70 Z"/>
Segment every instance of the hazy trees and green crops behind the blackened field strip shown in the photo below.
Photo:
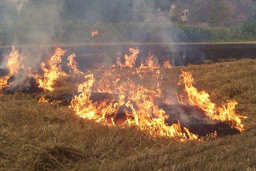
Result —
<path fill-rule="evenodd" d="M 0 7 L 0 45 L 24 44 L 26 26 L 31 25 L 33 31 L 35 22 L 19 16 L 26 18 L 30 6 L 25 4 L 17 11 L 8 1 L 0 2 L 2 5 L 5 8 Z M 180 10 L 172 13 L 172 5 Z M 256 2 L 252 0 L 59 0 L 59 6 L 60 19 L 54 22 L 51 38 L 56 44 L 256 40 Z M 189 9 L 189 25 L 183 25 L 180 18 L 185 8 Z M 47 30 L 44 22 L 38 23 L 34 32 Z M 98 30 L 99 35 L 91 37 L 93 30 Z"/>

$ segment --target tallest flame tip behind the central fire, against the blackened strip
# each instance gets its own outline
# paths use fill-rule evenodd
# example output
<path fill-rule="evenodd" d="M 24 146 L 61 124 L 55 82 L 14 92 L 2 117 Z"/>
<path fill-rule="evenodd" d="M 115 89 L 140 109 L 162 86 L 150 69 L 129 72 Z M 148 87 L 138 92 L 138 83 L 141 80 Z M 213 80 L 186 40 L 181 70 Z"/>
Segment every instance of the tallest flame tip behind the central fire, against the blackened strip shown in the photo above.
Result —
<path fill-rule="evenodd" d="M 125 62 L 121 63 L 120 59 L 117 61 L 117 64 L 121 68 L 129 67 L 133 68 L 135 66 L 135 60 L 138 58 L 139 49 L 130 48 L 129 51 L 132 53 L 131 55 L 124 55 Z"/>

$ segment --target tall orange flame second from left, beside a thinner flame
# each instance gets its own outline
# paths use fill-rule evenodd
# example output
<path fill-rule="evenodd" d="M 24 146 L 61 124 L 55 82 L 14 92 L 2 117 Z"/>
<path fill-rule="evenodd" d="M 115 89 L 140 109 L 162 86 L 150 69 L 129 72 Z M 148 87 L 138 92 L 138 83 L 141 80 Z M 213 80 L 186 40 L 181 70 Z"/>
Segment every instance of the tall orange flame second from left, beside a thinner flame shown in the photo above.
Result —
<path fill-rule="evenodd" d="M 41 63 L 42 71 L 44 71 L 44 78 L 38 78 L 39 88 L 44 90 L 53 91 L 53 85 L 60 76 L 66 76 L 67 74 L 61 69 L 61 57 L 66 53 L 65 50 L 56 48 L 55 54 L 51 56 L 48 61 L 49 69 L 46 68 L 44 62 Z"/>

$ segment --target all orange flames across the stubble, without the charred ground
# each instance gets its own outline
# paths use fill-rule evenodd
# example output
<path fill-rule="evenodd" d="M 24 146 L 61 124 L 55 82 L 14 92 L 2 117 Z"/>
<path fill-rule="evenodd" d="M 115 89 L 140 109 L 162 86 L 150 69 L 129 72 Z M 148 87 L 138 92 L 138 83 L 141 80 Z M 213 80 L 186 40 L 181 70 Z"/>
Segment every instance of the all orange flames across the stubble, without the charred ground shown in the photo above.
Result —
<path fill-rule="evenodd" d="M 96 77 L 97 80 L 93 74 L 84 76 L 86 81 L 77 86 L 79 95 L 73 97 L 69 107 L 79 117 L 108 126 L 135 126 L 138 130 L 147 132 L 154 137 L 164 136 L 181 141 L 198 139 L 198 135 L 194 134 L 194 132 L 191 133 L 186 127 L 182 126 L 182 120 L 180 122 L 179 119 L 175 123 L 167 122 L 168 119 L 173 119 L 169 118 L 172 115 L 166 113 L 167 110 L 164 110 L 166 108 L 158 100 L 163 101 L 166 105 L 172 104 L 172 101 L 163 98 L 161 68 L 159 63 L 154 61 L 155 56 L 151 53 L 148 54 L 145 63 L 141 62 L 140 67 L 135 68 L 139 50 L 130 48 L 129 51 L 131 52 L 130 55 L 124 55 L 124 63 L 118 60 L 116 65 L 104 71 L 102 77 Z M 66 50 L 57 47 L 47 63 L 48 68 L 44 62 L 41 63 L 44 77 L 40 78 L 38 74 L 35 74 L 39 84 L 38 87 L 53 91 L 56 80 L 60 76 L 67 75 L 61 69 L 61 57 L 65 53 Z M 74 75 L 82 74 L 77 68 L 75 57 L 74 53 L 71 54 L 68 57 L 67 65 Z M 21 60 L 22 56 L 13 48 L 7 62 L 10 74 L 0 77 L 0 89 L 10 86 L 8 85 L 8 79 L 20 69 L 24 69 Z M 164 61 L 163 67 L 172 68 L 169 61 Z M 117 68 L 128 68 L 129 70 L 119 72 Z M 30 68 L 27 71 L 30 71 Z M 28 73 L 31 73 L 31 71 Z M 153 76 L 155 85 L 148 88 L 141 84 L 136 84 L 132 79 L 134 74 L 138 74 L 140 79 L 144 79 L 148 75 Z M 32 75 L 29 74 L 28 76 Z M 197 109 L 202 111 L 203 116 L 205 114 L 203 118 L 205 120 L 227 122 L 240 132 L 244 131 L 244 124 L 241 119 L 246 117 L 236 113 L 235 106 L 238 104 L 237 101 L 227 101 L 221 107 L 217 107 L 215 103 L 210 101 L 208 93 L 205 91 L 199 92 L 193 86 L 193 77 L 189 72 L 182 71 L 180 83 L 184 83 L 184 91 L 187 94 L 186 102 L 182 102 L 182 104 L 188 103 L 196 106 Z M 106 96 L 103 99 L 95 100 L 95 94 L 104 94 Z M 46 96 L 42 96 L 39 102 L 49 102 L 49 99 Z M 55 100 L 51 103 L 55 102 L 61 101 Z M 213 137 L 218 136 L 217 132 L 211 133 L 211 135 Z"/>

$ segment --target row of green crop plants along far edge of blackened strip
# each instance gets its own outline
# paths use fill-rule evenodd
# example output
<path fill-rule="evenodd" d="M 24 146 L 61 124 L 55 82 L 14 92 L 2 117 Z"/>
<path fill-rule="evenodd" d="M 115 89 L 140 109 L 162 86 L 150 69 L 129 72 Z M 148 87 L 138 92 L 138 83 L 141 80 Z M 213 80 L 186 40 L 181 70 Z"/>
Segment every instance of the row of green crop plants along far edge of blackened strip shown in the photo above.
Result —
<path fill-rule="evenodd" d="M 256 27 L 256 26 L 254 26 Z M 13 40 L 26 39 L 17 35 L 18 28 L 0 24 L 0 44 L 10 45 Z M 209 42 L 256 40 L 256 32 L 250 26 L 234 28 L 205 28 L 190 25 L 159 25 L 156 23 L 82 23 L 64 21 L 56 25 L 52 39 L 56 43 L 74 42 Z M 91 31 L 99 34 L 91 36 Z"/>

